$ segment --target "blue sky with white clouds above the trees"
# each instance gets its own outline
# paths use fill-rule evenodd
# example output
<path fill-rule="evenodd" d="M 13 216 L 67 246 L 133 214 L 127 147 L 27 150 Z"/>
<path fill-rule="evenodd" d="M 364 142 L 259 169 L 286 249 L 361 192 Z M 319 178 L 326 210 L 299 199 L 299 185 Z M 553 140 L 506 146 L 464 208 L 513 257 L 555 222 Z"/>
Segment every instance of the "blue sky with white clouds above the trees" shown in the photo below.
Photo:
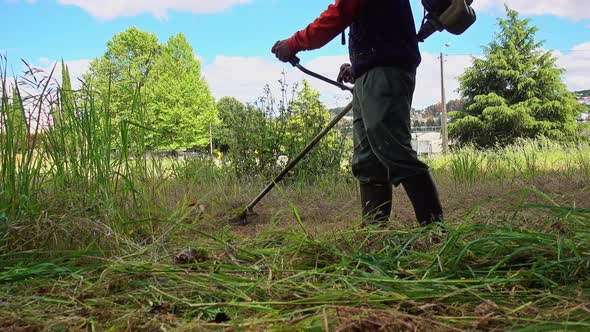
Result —
<path fill-rule="evenodd" d="M 475 0 L 478 22 L 462 36 L 437 34 L 421 45 L 424 61 L 418 76 L 415 106 L 438 101 L 440 75 L 436 55 L 445 43 L 448 54 L 445 80 L 449 98 L 456 97 L 456 76 L 481 54 L 497 30 L 503 4 L 531 18 L 539 26 L 537 38 L 556 50 L 564 81 L 574 89 L 590 89 L 590 11 L 574 0 Z M 90 59 L 105 51 L 106 42 L 130 26 L 154 32 L 164 42 L 178 32 L 186 35 L 202 61 L 203 73 L 216 97 L 233 95 L 252 101 L 266 83 L 275 85 L 282 70 L 298 81 L 303 76 L 277 63 L 272 44 L 291 36 L 317 17 L 331 0 L 0 0 L 0 52 L 10 68 L 21 70 L 23 58 L 41 68 L 63 58 L 80 75 Z M 411 0 L 415 18 L 422 17 L 418 0 Z M 301 54 L 304 64 L 334 76 L 346 62 L 346 47 L 337 38 L 325 48 Z M 310 79 L 328 106 L 340 105 L 345 93 Z"/>

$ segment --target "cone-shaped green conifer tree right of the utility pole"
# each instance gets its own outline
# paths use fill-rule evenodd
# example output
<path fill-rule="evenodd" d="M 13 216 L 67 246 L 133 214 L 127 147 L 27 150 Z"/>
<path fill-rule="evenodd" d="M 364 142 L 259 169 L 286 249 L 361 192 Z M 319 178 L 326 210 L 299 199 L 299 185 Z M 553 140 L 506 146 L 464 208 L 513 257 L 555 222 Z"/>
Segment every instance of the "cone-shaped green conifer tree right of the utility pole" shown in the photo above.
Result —
<path fill-rule="evenodd" d="M 506 7 L 500 32 L 483 47 L 484 58 L 459 78 L 463 110 L 450 113 L 451 138 L 481 147 L 517 138 L 562 139 L 576 134 L 580 106 L 561 81 L 556 58 L 535 41 L 538 28 Z"/>

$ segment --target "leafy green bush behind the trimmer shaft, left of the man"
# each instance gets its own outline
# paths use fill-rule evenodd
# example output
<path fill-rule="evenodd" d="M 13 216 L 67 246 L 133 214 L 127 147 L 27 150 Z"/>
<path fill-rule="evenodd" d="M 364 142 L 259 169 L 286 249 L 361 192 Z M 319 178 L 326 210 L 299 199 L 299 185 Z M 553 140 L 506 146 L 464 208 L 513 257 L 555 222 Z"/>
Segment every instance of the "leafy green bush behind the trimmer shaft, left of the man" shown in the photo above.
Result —
<path fill-rule="evenodd" d="M 283 91 L 288 87 L 283 83 Z M 275 173 L 285 155 L 294 158 L 323 129 L 330 113 L 319 99 L 319 92 L 306 81 L 292 100 L 276 103 L 266 88 L 256 105 L 243 105 L 231 97 L 217 103 L 222 124 L 216 136 L 228 147 L 228 159 L 239 175 Z M 346 127 L 334 130 L 310 152 L 292 176 L 325 175 L 337 171 L 350 149 Z"/>

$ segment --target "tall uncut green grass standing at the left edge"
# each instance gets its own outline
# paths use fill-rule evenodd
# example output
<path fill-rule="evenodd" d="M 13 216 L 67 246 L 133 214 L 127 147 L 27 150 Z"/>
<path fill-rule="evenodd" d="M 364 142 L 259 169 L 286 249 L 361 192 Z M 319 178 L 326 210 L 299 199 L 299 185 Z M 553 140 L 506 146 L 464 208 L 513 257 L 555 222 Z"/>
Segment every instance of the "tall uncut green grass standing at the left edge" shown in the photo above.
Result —
<path fill-rule="evenodd" d="M 55 68 L 10 79 L 2 60 L 0 244 L 117 251 L 153 242 L 160 232 L 153 220 L 178 208 L 155 206 L 154 199 L 173 172 L 188 167 L 146 150 L 142 92 L 126 105 L 137 119 L 120 119 L 110 91 L 64 90 Z"/>

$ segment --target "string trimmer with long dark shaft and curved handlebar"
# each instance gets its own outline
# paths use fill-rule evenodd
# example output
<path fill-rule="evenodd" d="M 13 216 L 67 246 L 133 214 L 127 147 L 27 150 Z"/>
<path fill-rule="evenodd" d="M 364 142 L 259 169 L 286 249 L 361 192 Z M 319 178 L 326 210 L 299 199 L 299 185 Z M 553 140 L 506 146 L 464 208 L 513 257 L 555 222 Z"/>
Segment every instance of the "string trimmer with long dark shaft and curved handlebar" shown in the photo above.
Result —
<path fill-rule="evenodd" d="M 300 60 L 298 57 L 293 57 L 291 60 L 289 60 L 289 63 L 291 63 L 293 67 L 297 67 L 305 74 L 308 74 L 324 82 L 335 85 L 342 90 L 353 92 L 351 87 L 338 83 L 318 73 L 314 73 L 313 71 L 303 67 L 299 62 Z M 239 215 L 235 216 L 231 220 L 238 225 L 247 225 L 248 216 L 254 215 L 254 207 L 277 185 L 277 183 L 279 183 L 301 161 L 301 159 L 303 159 L 303 157 L 305 157 L 309 153 L 309 151 L 311 151 L 322 140 L 322 138 L 324 138 L 324 136 L 328 134 L 328 132 L 330 132 L 330 130 L 332 130 L 332 128 L 334 128 L 338 124 L 338 122 L 340 122 L 340 120 L 342 120 L 346 113 L 350 112 L 351 109 L 352 103 L 344 107 L 344 109 L 340 113 L 338 113 L 338 115 L 334 119 L 332 119 L 332 121 L 330 121 L 326 128 L 324 128 L 319 134 L 317 134 L 317 136 L 305 147 L 305 149 L 303 149 L 303 151 L 301 151 L 293 160 L 291 160 L 291 162 L 289 162 L 285 169 L 279 175 L 277 175 L 277 177 L 275 177 L 274 180 L 272 180 L 272 182 L 270 182 L 266 186 L 266 188 L 264 188 L 264 190 L 262 190 L 262 192 L 260 192 L 260 194 L 258 194 L 258 196 L 256 196 L 256 198 L 252 200 L 252 202 L 250 202 L 250 204 L 248 204 L 244 211 L 242 211 Z"/>

